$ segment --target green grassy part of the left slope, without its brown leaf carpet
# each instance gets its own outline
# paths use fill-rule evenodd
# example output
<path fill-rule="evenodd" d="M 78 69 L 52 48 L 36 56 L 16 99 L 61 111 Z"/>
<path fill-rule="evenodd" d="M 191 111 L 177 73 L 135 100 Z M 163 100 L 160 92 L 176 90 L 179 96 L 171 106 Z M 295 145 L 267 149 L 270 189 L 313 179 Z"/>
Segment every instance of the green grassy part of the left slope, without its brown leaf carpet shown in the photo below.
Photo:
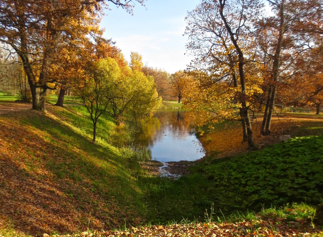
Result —
<path fill-rule="evenodd" d="M 93 124 L 81 106 L 47 106 L 47 114 L 28 110 L 1 117 L 18 121 L 19 135 L 13 130 L 12 136 L 17 139 L 10 143 L 13 151 L 20 151 L 15 159 L 25 165 L 21 175 L 26 180 L 42 183 L 50 178 L 60 184 L 59 192 L 70 199 L 70 205 L 78 202 L 73 209 L 79 213 L 80 226 L 87 226 L 90 211 L 107 228 L 124 220 L 127 225 L 146 220 L 147 209 L 137 176 L 142 172 L 139 163 L 146 162 L 147 156 L 143 151 L 118 148 L 130 136 L 126 126 L 116 126 L 110 117 L 100 118 L 97 142 L 91 144 Z M 42 170 L 51 176 L 43 175 Z M 47 211 L 47 207 L 43 208 Z M 89 228 L 93 228 L 92 222 Z"/>

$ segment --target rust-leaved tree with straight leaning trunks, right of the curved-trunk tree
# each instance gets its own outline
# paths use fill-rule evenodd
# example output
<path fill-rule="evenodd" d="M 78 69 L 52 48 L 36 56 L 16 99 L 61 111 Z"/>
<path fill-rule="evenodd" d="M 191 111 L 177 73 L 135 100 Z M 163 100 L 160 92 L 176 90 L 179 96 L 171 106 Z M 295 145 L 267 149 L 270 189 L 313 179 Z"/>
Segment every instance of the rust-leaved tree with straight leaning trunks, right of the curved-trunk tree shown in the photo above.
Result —
<path fill-rule="evenodd" d="M 263 18 L 259 22 L 262 27 L 258 31 L 259 39 L 261 39 L 259 44 L 267 60 L 263 63 L 267 64 L 267 68 L 271 67 L 268 70 L 265 88 L 267 99 L 261 126 L 262 135 L 270 133 L 279 81 L 284 80 L 283 75 L 290 74 L 290 67 L 297 54 L 310 49 L 313 39 L 322 34 L 322 27 L 319 23 L 322 5 L 317 0 L 306 2 L 267 0 L 267 2 L 272 6 L 275 16 Z"/>

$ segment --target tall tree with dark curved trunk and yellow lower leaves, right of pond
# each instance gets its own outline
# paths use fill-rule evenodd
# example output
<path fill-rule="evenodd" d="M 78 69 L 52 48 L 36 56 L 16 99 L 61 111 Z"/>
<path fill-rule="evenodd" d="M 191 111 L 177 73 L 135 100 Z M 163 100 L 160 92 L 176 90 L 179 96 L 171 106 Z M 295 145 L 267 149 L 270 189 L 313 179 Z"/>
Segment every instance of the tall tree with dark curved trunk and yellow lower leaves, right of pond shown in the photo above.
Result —
<path fill-rule="evenodd" d="M 186 34 L 191 40 L 187 47 L 196 55 L 196 62 L 191 64 L 191 68 L 206 75 L 200 85 L 201 92 L 205 92 L 201 97 L 208 101 L 204 110 L 220 117 L 220 114 L 232 115 L 234 109 L 239 109 L 250 148 L 254 142 L 249 98 L 259 90 L 258 83 L 253 82 L 259 76 L 254 71 L 246 71 L 256 67 L 248 64 L 253 62 L 253 38 L 250 32 L 259 8 L 259 2 L 253 0 L 203 1 L 186 18 Z M 219 104 L 217 98 L 220 96 L 227 103 Z M 211 97 L 213 101 L 209 99 Z M 227 112 L 219 113 L 224 108 Z"/>

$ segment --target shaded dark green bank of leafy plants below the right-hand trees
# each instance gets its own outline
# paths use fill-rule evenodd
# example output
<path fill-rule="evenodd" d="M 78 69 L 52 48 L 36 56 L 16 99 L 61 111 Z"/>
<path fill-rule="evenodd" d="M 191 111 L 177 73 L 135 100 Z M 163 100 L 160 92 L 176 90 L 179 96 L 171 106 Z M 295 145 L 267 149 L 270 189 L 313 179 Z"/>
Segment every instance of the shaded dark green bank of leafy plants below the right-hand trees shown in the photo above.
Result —
<path fill-rule="evenodd" d="M 317 205 L 323 201 L 322 160 L 323 136 L 295 138 L 224 159 L 211 155 L 179 180 L 150 179 L 145 186 L 149 217 L 153 223 L 201 220 L 213 204 L 220 217 L 293 202 Z"/>

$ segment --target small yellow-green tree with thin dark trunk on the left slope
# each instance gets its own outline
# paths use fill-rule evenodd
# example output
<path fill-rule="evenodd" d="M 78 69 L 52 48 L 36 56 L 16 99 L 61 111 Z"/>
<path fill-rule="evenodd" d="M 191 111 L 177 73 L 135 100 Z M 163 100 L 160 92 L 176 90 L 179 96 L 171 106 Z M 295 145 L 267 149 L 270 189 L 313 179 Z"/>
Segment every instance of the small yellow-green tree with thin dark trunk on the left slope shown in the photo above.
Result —
<path fill-rule="evenodd" d="M 84 66 L 74 88 L 93 122 L 92 142 L 102 114 L 111 115 L 117 122 L 122 116 L 139 118 L 151 113 L 161 102 L 152 77 L 132 71 L 127 65 L 119 67 L 110 57 Z"/>

